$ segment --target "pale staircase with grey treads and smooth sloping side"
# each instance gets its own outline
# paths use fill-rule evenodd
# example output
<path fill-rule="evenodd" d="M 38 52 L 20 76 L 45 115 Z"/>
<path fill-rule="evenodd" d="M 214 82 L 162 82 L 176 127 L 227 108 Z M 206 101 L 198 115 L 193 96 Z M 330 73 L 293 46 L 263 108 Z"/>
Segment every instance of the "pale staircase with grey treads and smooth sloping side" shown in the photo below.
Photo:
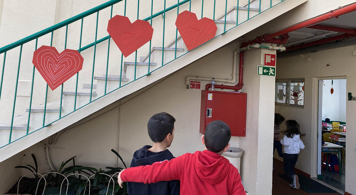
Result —
<path fill-rule="evenodd" d="M 166 44 L 166 47 L 164 48 L 162 48 L 162 45 L 161 47 L 153 46 L 150 51 L 151 54 L 139 57 L 138 62 L 124 62 L 121 75 L 95 75 L 94 80 L 96 80 L 96 84 L 91 87 L 91 84 L 84 83 L 80 86 L 80 89 L 78 89 L 75 107 L 80 109 L 75 110 L 74 112 L 72 111 L 74 107 L 73 102 L 75 91 L 63 91 L 63 103 L 61 109 L 59 108 L 61 105 L 59 100 L 48 102 L 46 104 L 46 109 L 43 104 L 33 105 L 31 107 L 30 117 L 28 117 L 29 109 L 26 110 L 26 114 L 14 117 L 11 140 L 18 140 L 0 148 L 0 162 L 64 128 L 70 128 L 71 126 L 78 125 L 78 123 L 83 123 L 90 118 L 108 112 L 122 104 L 122 100 L 127 101 L 138 94 L 143 93 L 185 66 L 203 58 L 226 44 L 235 41 L 235 39 L 243 36 L 247 32 L 271 21 L 305 1 L 306 0 L 285 1 L 261 14 L 258 14 L 258 9 L 251 7 L 249 9 L 251 11 L 250 17 L 252 18 L 235 28 L 232 27 L 236 26 L 236 11 L 244 11 L 247 8 L 237 8 L 236 6 L 231 7 L 226 12 L 226 22 L 225 14 L 217 17 L 215 20 L 216 26 L 218 27 L 216 32 L 217 37 L 206 42 L 202 46 L 193 49 L 193 51 L 187 52 L 187 47 L 182 38 L 178 35 L 177 39 Z M 232 29 L 222 34 L 224 32 L 225 23 L 226 29 Z M 163 60 L 162 53 L 164 54 Z M 177 56 L 177 59 L 175 59 L 175 55 Z M 151 62 L 149 62 L 149 59 Z M 148 65 L 150 66 L 148 72 L 151 72 L 151 74 L 147 74 Z M 133 80 L 132 72 L 134 69 L 138 72 L 137 78 L 141 77 L 140 73 L 147 75 L 131 83 L 130 81 Z M 108 93 L 105 93 L 105 89 Z M 92 99 L 90 104 L 88 104 L 89 99 Z M 58 117 L 59 113 L 65 117 Z M 42 118 L 44 114 L 46 115 L 46 120 L 43 123 Z M 28 118 L 30 118 L 30 122 L 27 127 Z M 59 119 L 56 120 L 56 118 Z M 4 145 L 4 143 L 6 144 L 8 141 L 9 138 L 5 135 L 9 135 L 10 128 L 11 121 L 0 123 L 1 145 Z M 26 135 L 27 131 L 30 134 Z M 23 137 L 23 135 L 26 136 Z"/>

